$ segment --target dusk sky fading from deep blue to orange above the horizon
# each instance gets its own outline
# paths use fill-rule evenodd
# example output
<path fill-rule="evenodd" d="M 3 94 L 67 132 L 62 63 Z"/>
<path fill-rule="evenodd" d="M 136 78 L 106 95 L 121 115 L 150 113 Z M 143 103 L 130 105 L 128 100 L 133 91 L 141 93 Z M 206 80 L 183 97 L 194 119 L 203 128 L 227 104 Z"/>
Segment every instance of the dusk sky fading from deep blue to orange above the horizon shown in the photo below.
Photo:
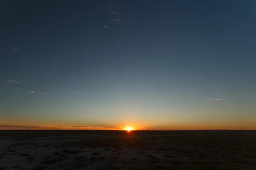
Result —
<path fill-rule="evenodd" d="M 0 11 L 0 129 L 256 129 L 254 0 Z"/>

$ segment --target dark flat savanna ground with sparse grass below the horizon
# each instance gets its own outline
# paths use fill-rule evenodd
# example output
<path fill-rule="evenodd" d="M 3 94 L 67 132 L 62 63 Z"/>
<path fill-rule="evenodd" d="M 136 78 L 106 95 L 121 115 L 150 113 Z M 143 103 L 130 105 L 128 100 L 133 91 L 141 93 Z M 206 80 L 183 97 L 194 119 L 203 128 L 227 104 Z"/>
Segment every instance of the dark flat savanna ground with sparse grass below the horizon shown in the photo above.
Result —
<path fill-rule="evenodd" d="M 0 131 L 0 170 L 256 170 L 256 131 Z"/>

